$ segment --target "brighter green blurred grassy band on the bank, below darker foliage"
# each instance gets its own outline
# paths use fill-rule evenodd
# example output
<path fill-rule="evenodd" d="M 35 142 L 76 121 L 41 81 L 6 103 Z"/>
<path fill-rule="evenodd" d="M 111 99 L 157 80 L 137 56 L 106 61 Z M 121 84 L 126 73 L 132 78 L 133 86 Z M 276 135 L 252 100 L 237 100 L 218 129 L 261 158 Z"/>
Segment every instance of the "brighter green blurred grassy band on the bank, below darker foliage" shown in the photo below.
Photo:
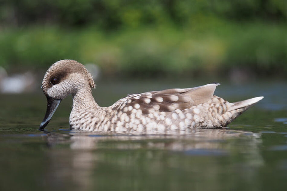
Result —
<path fill-rule="evenodd" d="M 97 27 L 2 31 L 0 64 L 6 68 L 47 68 L 60 59 L 76 59 L 96 63 L 108 74 L 220 72 L 234 66 L 263 74 L 286 73 L 287 27 L 216 25 L 224 25 L 224 30 L 210 24 L 197 30 L 166 25 L 117 33 L 105 33 Z"/>

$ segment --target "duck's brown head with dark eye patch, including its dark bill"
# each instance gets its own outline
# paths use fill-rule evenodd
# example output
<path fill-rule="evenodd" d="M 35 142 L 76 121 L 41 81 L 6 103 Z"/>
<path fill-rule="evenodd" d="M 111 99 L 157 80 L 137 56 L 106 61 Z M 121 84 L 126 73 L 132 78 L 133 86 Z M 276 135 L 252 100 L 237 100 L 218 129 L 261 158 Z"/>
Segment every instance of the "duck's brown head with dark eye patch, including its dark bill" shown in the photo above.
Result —
<path fill-rule="evenodd" d="M 42 81 L 42 89 L 47 97 L 47 111 L 40 130 L 47 126 L 60 102 L 81 88 L 95 88 L 92 75 L 84 65 L 75 60 L 60 60 L 50 66 Z"/>

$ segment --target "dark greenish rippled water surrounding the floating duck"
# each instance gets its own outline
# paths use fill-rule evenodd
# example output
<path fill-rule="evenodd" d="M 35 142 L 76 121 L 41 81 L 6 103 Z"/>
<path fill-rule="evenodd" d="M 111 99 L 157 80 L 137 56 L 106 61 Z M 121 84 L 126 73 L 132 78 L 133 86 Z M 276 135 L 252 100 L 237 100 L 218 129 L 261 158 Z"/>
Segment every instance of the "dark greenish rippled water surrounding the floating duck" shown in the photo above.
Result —
<path fill-rule="evenodd" d="M 128 93 L 203 83 L 97 84 L 95 99 L 108 106 Z M 222 83 L 216 95 L 265 98 L 229 129 L 128 136 L 70 131 L 71 98 L 40 132 L 40 91 L 0 95 L 0 190 L 286 190 L 287 84 Z"/>

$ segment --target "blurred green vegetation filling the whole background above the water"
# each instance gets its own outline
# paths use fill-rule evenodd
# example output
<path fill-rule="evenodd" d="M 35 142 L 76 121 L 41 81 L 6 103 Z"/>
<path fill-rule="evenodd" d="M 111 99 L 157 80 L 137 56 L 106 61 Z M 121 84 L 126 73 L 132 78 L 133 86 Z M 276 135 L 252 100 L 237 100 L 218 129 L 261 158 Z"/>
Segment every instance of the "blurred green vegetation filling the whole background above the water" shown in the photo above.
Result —
<path fill-rule="evenodd" d="M 284 0 L 2 0 L 0 66 L 75 59 L 107 76 L 286 78 L 286 24 Z"/>

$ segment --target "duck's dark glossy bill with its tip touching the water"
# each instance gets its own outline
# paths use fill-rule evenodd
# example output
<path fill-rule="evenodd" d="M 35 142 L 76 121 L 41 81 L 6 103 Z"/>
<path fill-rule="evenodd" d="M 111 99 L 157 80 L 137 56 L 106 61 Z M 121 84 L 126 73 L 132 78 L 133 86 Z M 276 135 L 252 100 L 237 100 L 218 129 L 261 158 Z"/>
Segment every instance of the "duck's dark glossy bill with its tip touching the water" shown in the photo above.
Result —
<path fill-rule="evenodd" d="M 54 99 L 47 96 L 47 111 L 42 123 L 40 124 L 40 130 L 43 130 L 48 125 L 61 101 L 61 99 Z"/>

